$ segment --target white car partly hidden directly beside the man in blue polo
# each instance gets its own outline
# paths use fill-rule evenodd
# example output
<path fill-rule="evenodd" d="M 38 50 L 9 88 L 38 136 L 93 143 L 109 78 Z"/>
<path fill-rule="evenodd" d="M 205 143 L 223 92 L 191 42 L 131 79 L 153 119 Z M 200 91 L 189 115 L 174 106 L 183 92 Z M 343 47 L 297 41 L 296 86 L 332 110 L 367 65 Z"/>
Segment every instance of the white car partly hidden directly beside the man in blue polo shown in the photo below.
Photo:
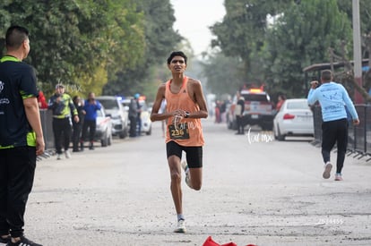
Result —
<path fill-rule="evenodd" d="M 95 140 L 100 140 L 102 147 L 107 147 L 112 143 L 112 122 L 111 117 L 106 113 L 104 106 L 97 111 L 97 129 Z"/>

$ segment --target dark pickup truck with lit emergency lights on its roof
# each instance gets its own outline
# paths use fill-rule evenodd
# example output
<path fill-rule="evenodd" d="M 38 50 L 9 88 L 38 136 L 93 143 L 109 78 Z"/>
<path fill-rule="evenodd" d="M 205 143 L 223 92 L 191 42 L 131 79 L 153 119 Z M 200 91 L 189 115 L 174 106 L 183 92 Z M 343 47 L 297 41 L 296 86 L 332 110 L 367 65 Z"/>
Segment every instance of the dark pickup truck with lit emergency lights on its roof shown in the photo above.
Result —
<path fill-rule="evenodd" d="M 242 89 L 239 92 L 239 97 L 245 98 L 243 124 L 259 125 L 263 131 L 272 131 L 274 110 L 268 93 L 261 88 Z M 237 98 L 237 95 L 233 98 L 227 116 L 228 127 L 233 130 L 237 129 L 236 115 L 234 112 Z"/>

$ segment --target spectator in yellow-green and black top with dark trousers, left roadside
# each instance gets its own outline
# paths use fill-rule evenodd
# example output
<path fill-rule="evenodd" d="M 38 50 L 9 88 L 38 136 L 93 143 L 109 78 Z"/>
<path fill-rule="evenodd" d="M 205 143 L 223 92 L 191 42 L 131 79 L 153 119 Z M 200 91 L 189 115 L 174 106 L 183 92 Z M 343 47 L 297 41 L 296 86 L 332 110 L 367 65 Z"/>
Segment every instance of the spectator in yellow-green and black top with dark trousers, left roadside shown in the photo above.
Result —
<path fill-rule="evenodd" d="M 53 111 L 53 132 L 56 143 L 56 159 L 62 156 L 62 141 L 65 148 L 65 157 L 70 158 L 68 150 L 71 141 L 72 121 L 79 122 L 76 108 L 73 106 L 72 98 L 65 93 L 63 84 L 56 85 L 56 93 L 49 99 L 48 108 Z"/>

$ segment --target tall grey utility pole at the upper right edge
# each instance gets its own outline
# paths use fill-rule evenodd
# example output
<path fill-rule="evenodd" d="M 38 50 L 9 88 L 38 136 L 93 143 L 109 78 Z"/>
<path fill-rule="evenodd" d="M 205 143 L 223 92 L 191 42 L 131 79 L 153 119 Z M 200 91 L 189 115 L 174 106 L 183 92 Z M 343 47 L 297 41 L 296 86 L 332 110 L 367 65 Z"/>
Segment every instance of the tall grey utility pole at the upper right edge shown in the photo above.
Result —
<path fill-rule="evenodd" d="M 360 24 L 359 24 L 359 0 L 353 0 L 353 60 L 354 60 L 354 80 L 358 85 L 362 85 L 362 55 L 360 41 Z M 362 95 L 355 89 L 354 99 L 356 104 L 362 104 Z"/>

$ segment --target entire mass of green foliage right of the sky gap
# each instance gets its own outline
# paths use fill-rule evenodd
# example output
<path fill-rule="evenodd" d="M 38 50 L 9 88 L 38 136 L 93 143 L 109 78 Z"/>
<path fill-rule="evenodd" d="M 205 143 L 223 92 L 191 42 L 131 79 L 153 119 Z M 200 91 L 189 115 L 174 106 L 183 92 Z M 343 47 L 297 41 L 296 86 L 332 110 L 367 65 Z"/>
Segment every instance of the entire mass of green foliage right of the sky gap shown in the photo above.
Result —
<path fill-rule="evenodd" d="M 370 6 L 360 0 L 365 31 L 371 26 Z M 236 81 L 265 84 L 273 95 L 305 97 L 304 67 L 329 62 L 330 47 L 342 54 L 342 42 L 344 55 L 351 57 L 351 1 L 226 0 L 225 7 L 223 21 L 211 27 L 216 36 L 211 45 L 240 58 Z"/>

